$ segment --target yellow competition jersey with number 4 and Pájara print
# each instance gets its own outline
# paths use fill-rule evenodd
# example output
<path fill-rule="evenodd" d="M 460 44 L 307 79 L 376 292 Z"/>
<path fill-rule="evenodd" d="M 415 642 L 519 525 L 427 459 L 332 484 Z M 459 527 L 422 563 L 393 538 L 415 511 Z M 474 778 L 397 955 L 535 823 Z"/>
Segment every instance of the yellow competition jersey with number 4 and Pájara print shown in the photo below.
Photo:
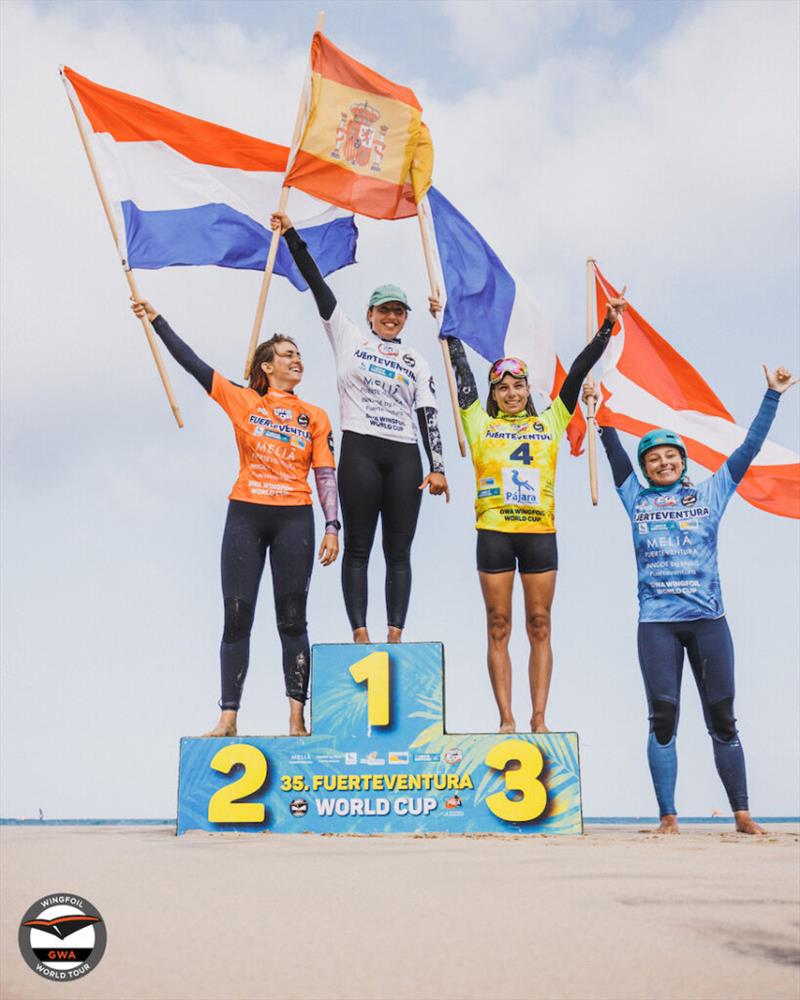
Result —
<path fill-rule="evenodd" d="M 490 531 L 555 531 L 558 446 L 572 414 L 559 396 L 532 417 L 490 417 L 478 400 L 461 411 L 475 466 L 475 526 Z"/>

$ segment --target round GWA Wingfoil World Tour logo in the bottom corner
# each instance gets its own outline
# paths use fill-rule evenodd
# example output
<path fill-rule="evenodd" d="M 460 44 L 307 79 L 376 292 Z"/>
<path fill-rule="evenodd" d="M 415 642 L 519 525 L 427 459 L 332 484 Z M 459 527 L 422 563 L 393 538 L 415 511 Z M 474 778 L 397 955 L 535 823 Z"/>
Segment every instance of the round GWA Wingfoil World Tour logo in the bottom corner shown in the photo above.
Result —
<path fill-rule="evenodd" d="M 18 941 L 22 957 L 37 975 L 69 982 L 97 967 L 106 950 L 106 925 L 85 897 L 56 892 L 28 907 Z"/>

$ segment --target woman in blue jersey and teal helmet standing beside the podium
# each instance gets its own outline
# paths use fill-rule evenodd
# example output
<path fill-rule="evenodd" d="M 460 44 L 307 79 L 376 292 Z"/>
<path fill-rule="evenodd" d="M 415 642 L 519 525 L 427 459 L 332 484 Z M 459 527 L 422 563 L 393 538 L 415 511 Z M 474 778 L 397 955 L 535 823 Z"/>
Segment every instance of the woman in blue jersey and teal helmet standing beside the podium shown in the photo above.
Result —
<path fill-rule="evenodd" d="M 767 392 L 742 444 L 709 479 L 695 485 L 687 474 L 686 448 L 669 430 L 650 431 L 639 442 L 643 486 L 612 427 L 602 442 L 614 485 L 631 519 L 639 574 L 639 664 L 650 717 L 647 760 L 661 815 L 659 833 L 678 833 L 675 779 L 684 650 L 694 674 L 703 716 L 740 833 L 764 833 L 750 816 L 744 751 L 733 712 L 733 642 L 722 603 L 717 531 L 728 501 L 766 439 L 781 394 L 798 380 L 785 368 L 770 372 Z M 596 399 L 589 379 L 583 399 Z"/>

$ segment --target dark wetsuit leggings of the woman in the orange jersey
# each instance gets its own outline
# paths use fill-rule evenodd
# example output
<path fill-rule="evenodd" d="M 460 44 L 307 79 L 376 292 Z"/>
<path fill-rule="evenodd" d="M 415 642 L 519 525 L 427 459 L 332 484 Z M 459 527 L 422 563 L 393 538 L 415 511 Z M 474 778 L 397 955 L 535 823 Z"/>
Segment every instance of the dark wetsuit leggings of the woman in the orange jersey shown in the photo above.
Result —
<path fill-rule="evenodd" d="M 222 536 L 225 630 L 220 646 L 220 708 L 238 709 L 250 661 L 250 631 L 267 549 L 275 618 L 283 647 L 286 694 L 305 701 L 308 692 L 306 598 L 314 566 L 311 505 L 278 507 L 231 500 Z"/>

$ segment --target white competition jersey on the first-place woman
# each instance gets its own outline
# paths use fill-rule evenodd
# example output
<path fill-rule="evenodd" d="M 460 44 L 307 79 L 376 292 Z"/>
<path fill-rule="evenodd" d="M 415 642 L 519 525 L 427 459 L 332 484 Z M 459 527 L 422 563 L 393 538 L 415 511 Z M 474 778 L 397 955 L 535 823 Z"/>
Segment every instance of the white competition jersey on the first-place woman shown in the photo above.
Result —
<path fill-rule="evenodd" d="M 338 305 L 323 320 L 336 355 L 342 430 L 416 444 L 416 416 L 436 409 L 428 362 L 413 347 L 360 330 Z"/>

